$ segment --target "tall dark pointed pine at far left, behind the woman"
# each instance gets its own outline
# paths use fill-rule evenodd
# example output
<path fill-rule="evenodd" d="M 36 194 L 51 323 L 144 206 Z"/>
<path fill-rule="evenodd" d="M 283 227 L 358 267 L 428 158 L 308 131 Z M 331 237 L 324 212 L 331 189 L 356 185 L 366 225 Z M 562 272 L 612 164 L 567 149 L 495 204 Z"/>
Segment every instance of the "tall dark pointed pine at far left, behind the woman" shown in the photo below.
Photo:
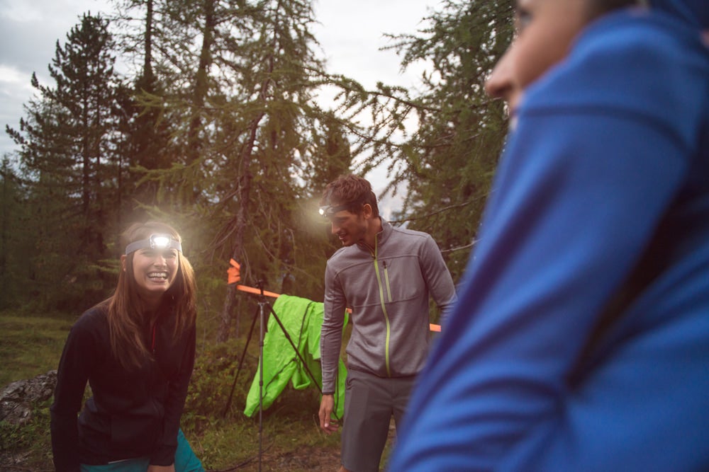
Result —
<path fill-rule="evenodd" d="M 104 234 L 115 231 L 107 225 L 117 175 L 109 139 L 117 80 L 112 49 L 108 22 L 84 14 L 65 45 L 57 41 L 49 67 L 55 86 L 43 86 L 33 75 L 40 98 L 26 106 L 19 130 L 8 128 L 21 146 L 35 237 L 43 248 L 36 258 L 42 266 L 38 286 L 48 297 L 57 295 L 60 306 L 61 300 L 88 304 L 106 295 L 96 263 L 108 255 Z M 59 274 L 68 282 L 64 287 L 53 278 Z"/>

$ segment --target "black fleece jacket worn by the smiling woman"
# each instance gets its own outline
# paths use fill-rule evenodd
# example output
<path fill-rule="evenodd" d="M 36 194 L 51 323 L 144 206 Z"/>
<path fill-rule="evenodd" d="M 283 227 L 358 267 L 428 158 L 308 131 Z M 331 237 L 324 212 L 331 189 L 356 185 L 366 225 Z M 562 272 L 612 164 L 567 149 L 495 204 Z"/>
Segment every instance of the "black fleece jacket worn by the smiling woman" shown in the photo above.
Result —
<path fill-rule="evenodd" d="M 153 359 L 127 370 L 111 354 L 107 313 L 104 302 L 82 314 L 62 353 L 51 407 L 58 472 L 136 457 L 161 466 L 174 462 L 194 367 L 194 325 L 173 340 L 172 308 L 163 309 L 155 327 L 146 327 Z M 77 420 L 86 381 L 93 396 Z"/>

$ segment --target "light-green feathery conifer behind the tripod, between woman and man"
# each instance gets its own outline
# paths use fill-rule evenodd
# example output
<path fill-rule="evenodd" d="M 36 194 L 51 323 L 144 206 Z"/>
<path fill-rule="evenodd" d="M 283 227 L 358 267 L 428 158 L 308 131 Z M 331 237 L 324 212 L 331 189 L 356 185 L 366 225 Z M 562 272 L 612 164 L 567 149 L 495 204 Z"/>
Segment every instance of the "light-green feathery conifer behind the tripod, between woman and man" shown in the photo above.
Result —
<path fill-rule="evenodd" d="M 303 196 L 313 193 L 308 162 L 321 151 L 313 146 L 318 141 L 313 137 L 325 142 L 332 118 L 313 98 L 324 71 L 308 29 L 312 6 L 299 0 L 263 1 L 260 6 L 243 23 L 254 34 L 240 38 L 234 56 L 225 62 L 241 88 L 239 102 L 225 107 L 225 117 L 236 118 L 236 133 L 225 136 L 225 144 L 233 145 L 225 149 L 235 152 L 238 167 L 224 174 L 231 183 L 223 185 L 227 193 L 221 201 L 225 208 L 234 207 L 235 216 L 225 221 L 220 234 L 233 235 L 222 241 L 231 258 L 247 261 L 243 274 L 252 282 L 321 297 L 321 277 L 304 270 L 313 259 L 324 268 L 325 256 L 313 257 L 313 221 L 306 214 L 315 212 L 312 200 Z M 337 159 L 347 161 L 348 154 Z M 229 195 L 236 202 L 228 202 Z M 234 301 L 229 287 L 219 340 L 229 337 Z"/>

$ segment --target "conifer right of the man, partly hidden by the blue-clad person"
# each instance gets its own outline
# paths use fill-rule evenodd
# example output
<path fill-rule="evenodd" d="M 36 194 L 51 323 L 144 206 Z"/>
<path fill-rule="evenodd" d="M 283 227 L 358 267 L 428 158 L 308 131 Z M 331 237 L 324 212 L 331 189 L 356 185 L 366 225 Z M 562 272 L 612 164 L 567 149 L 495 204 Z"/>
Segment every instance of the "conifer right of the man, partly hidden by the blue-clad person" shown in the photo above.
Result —
<path fill-rule="evenodd" d="M 424 91 L 401 100 L 418 127 L 392 151 L 390 188 L 405 185 L 399 223 L 440 244 L 454 279 L 462 274 L 506 134 L 503 105 L 484 82 L 513 34 L 512 2 L 442 2 L 419 35 L 398 37 L 403 66 L 432 64 Z M 395 110 L 393 122 L 400 122 Z M 408 115 L 406 115 L 408 116 Z"/>

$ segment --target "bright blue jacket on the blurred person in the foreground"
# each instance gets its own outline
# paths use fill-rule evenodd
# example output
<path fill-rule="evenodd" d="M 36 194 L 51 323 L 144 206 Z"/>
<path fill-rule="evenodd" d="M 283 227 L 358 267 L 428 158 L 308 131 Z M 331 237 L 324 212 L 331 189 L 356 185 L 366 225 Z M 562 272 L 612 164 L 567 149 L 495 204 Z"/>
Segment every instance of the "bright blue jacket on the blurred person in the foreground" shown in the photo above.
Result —
<path fill-rule="evenodd" d="M 527 89 L 391 471 L 709 470 L 709 2 Z"/>

